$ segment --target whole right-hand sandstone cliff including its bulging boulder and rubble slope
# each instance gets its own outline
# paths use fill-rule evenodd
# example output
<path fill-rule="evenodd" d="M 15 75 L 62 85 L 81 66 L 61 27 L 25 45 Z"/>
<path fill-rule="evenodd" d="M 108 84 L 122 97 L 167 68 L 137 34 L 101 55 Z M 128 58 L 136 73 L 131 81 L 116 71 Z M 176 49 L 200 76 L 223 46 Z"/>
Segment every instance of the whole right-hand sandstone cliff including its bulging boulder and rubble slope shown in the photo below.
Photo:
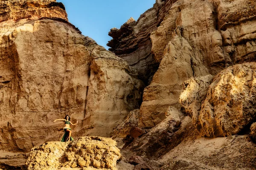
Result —
<path fill-rule="evenodd" d="M 113 137 L 127 135 L 116 140 L 135 169 L 255 168 L 255 6 L 254 0 L 157 0 L 136 22 L 111 30 L 110 50 L 139 73 L 131 60 L 143 57 L 127 48 L 148 40 L 145 51 L 159 63 L 136 121 L 131 112 L 113 130 Z M 154 19 L 140 23 L 150 13 Z M 129 126 L 140 136 L 132 137 Z"/>

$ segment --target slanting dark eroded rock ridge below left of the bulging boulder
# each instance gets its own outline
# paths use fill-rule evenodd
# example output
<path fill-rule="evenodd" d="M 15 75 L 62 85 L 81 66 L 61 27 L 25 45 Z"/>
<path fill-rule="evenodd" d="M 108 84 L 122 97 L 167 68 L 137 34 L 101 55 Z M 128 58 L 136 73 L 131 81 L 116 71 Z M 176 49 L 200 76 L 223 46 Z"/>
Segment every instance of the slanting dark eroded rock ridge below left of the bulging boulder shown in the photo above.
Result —
<path fill-rule="evenodd" d="M 156 160 L 159 156 L 172 150 L 187 136 L 198 134 L 191 119 L 176 108 L 166 110 L 166 119 L 148 130 L 143 136 L 134 139 L 125 150 L 132 150 L 138 156 Z M 195 131 L 195 132 L 194 132 Z M 127 147 L 127 148 L 125 148 Z"/>

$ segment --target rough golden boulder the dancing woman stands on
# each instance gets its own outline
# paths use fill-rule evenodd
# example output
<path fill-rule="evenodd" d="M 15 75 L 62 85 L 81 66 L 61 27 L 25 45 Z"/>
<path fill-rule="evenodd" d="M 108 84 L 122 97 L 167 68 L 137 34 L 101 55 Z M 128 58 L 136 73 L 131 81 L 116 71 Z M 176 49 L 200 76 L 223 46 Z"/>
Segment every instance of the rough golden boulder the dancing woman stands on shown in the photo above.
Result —
<path fill-rule="evenodd" d="M 33 147 L 26 167 L 27 170 L 112 170 L 120 158 L 120 150 L 111 138 L 86 136 L 72 142 L 47 142 Z"/>

